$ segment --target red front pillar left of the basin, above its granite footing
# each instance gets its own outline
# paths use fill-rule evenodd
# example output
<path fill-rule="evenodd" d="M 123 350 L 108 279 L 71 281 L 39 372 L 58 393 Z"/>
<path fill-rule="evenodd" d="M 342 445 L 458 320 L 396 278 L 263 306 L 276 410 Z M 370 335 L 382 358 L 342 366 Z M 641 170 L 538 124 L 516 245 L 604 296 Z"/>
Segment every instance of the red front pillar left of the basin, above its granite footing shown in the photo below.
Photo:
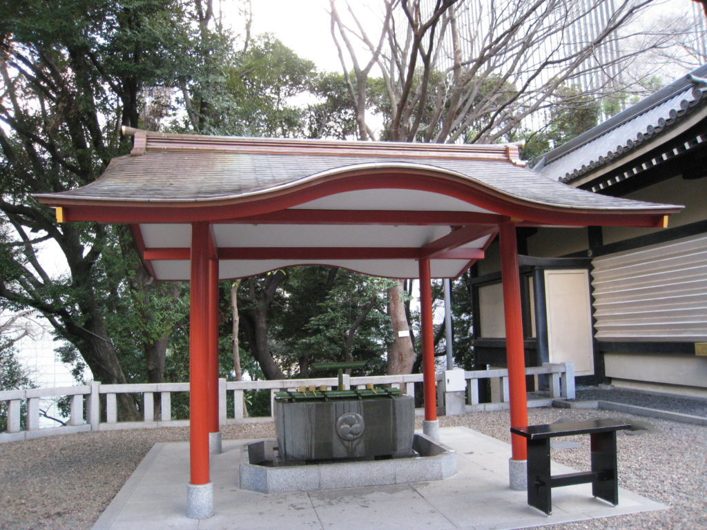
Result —
<path fill-rule="evenodd" d="M 192 223 L 189 307 L 189 483 L 209 483 L 209 223 Z"/>

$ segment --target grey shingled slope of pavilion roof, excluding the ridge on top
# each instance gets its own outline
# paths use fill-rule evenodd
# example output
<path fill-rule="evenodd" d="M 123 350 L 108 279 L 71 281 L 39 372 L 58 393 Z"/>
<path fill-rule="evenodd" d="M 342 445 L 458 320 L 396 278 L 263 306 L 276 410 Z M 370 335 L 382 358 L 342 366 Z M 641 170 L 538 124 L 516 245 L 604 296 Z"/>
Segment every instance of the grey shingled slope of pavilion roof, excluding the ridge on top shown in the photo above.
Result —
<path fill-rule="evenodd" d="M 359 145 L 361 143 L 358 143 Z M 86 201 L 189 202 L 238 198 L 296 184 L 315 175 L 357 165 L 407 165 L 453 172 L 502 194 L 547 206 L 604 209 L 655 209 L 665 205 L 629 201 L 575 189 L 510 162 L 448 158 L 151 151 L 112 160 L 103 175 L 84 187 L 43 194 Z M 669 208 L 669 206 L 665 206 Z"/>

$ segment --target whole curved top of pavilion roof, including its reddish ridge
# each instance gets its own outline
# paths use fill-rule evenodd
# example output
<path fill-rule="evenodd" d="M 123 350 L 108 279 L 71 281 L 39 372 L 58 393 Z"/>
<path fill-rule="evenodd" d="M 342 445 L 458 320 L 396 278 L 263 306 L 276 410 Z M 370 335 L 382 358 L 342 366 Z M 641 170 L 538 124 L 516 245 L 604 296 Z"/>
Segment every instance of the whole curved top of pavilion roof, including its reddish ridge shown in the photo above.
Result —
<path fill-rule="evenodd" d="M 44 202 L 208 203 L 267 194 L 350 170 L 443 172 L 510 199 L 582 210 L 670 206 L 585 192 L 522 167 L 516 146 L 237 139 L 136 134 L 132 155 L 115 158 L 95 182 Z"/>

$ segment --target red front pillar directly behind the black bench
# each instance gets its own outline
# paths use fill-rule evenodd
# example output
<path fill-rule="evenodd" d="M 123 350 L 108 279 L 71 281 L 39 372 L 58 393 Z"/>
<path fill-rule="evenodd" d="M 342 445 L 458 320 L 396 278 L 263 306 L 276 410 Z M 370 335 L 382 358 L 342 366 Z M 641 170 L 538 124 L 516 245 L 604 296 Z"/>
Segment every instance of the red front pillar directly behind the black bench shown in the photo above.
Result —
<path fill-rule="evenodd" d="M 527 395 L 525 391 L 525 348 L 520 307 L 520 272 L 515 223 L 499 227 L 501 245 L 501 277 L 503 279 L 503 311 L 506 317 L 506 358 L 508 359 L 508 389 L 510 391 L 510 426 L 527 425 Z M 525 439 L 511 435 L 513 460 L 526 460 Z"/>

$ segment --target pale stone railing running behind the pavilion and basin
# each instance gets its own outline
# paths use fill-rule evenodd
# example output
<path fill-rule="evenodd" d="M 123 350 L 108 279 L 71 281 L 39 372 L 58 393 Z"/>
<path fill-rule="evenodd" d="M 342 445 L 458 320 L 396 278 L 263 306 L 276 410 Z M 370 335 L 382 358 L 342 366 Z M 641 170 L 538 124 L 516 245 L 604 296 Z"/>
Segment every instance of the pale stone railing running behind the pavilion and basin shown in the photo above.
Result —
<path fill-rule="evenodd" d="M 547 374 L 550 376 L 549 401 L 560 397 L 574 397 L 574 368 L 572 363 L 545 364 L 541 367 L 525 369 L 527 375 Z M 437 375 L 441 379 L 443 374 Z M 466 411 L 491 410 L 508 407 L 508 370 L 477 370 L 464 372 L 467 381 L 465 391 Z M 491 379 L 492 402 L 479 403 L 479 381 Z M 402 389 L 404 393 L 415 395 L 415 384 L 421 383 L 422 374 L 411 375 L 382 375 L 351 377 L 344 375 L 344 388 L 351 389 L 363 385 L 390 384 L 392 387 Z M 239 381 L 227 382 L 226 379 L 218 380 L 218 417 L 221 425 L 230 423 L 249 423 L 271 421 L 272 417 L 247 418 L 243 414 L 245 391 L 269 390 L 271 402 L 275 393 L 284 389 L 298 387 L 336 387 L 336 377 L 319 379 L 284 379 L 265 381 Z M 441 385 L 438 384 L 438 389 Z M 496 391 L 493 391 L 493 389 Z M 119 430 L 158 427 L 184 427 L 189 425 L 189 420 L 173 420 L 172 395 L 178 392 L 188 392 L 189 383 L 146 383 L 146 384 L 101 384 L 90 382 L 80 387 L 45 387 L 27 390 L 0 391 L 0 402 L 7 404 L 7 428 L 0 432 L 1 442 L 15 440 L 30 440 L 36 437 L 69 434 L 88 430 Z M 227 414 L 227 394 L 233 392 L 233 416 Z M 118 421 L 118 394 L 134 394 L 142 396 L 141 421 Z M 51 428 L 40 428 L 40 400 L 70 397 L 71 413 L 66 425 Z M 158 396 L 158 398 L 156 397 Z M 156 399 L 160 407 L 156 414 Z M 438 401 L 444 402 L 445 394 L 438 391 Z M 548 401 L 545 400 L 545 401 Z M 547 404 L 545 401 L 536 406 Z M 21 422 L 22 405 L 25 404 L 25 423 Z M 102 406 L 105 411 L 105 420 L 101 417 Z M 272 410 L 272 407 L 270 408 Z M 417 409 L 418 413 L 422 409 Z"/>

